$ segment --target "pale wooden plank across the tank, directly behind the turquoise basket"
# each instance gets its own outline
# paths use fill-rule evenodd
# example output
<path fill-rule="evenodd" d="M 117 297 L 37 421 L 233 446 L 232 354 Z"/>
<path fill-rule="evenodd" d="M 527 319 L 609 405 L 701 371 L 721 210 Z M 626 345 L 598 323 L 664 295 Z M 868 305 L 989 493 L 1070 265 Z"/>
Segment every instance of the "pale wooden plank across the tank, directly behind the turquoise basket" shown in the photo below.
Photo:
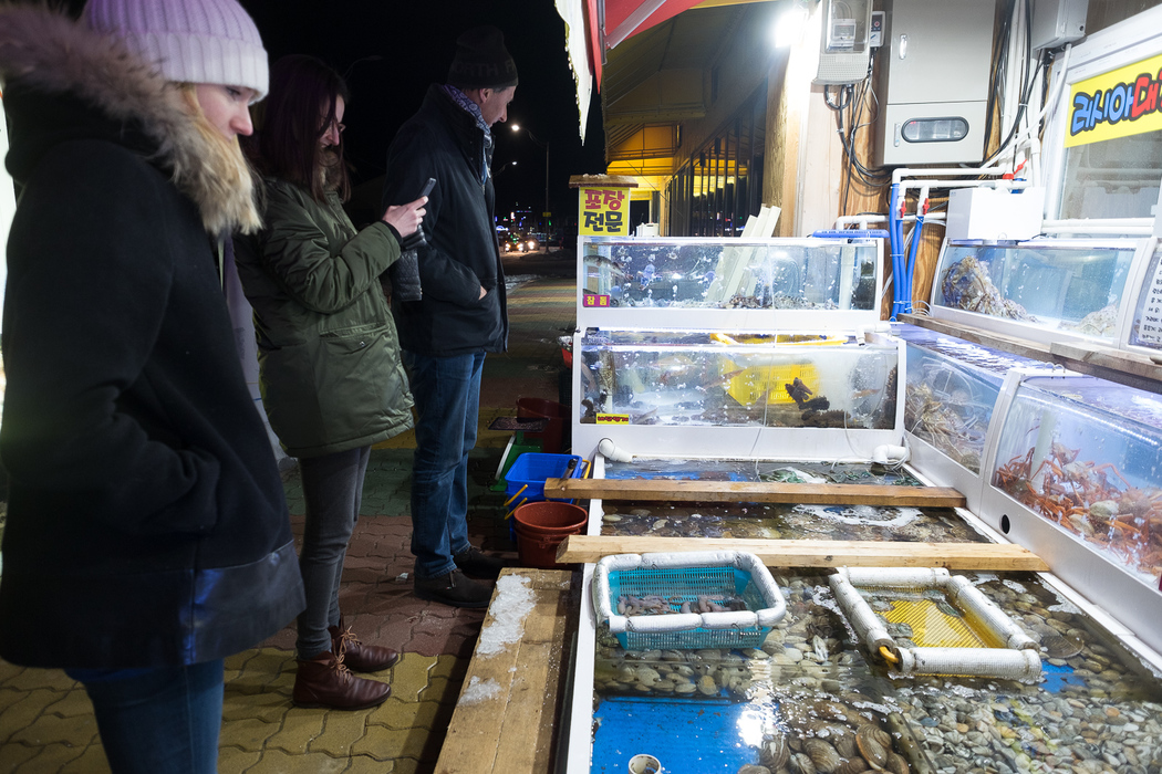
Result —
<path fill-rule="evenodd" d="M 904 543 L 897 541 L 826 541 L 712 537 L 569 535 L 557 550 L 558 562 L 596 562 L 611 554 L 672 551 L 748 551 L 770 567 L 947 567 L 1048 572 L 1032 551 L 999 543 Z"/>

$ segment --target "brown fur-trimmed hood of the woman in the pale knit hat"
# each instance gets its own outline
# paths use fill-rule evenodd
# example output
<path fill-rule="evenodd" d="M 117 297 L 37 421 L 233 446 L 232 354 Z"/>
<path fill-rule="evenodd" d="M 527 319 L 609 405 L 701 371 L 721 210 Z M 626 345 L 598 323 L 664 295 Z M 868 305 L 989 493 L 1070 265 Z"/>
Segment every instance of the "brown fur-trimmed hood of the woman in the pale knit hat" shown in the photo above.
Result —
<path fill-rule="evenodd" d="M 209 233 L 260 225 L 253 180 L 237 143 L 228 152 L 203 136 L 181 89 L 115 38 L 58 10 L 0 5 L 0 81 L 13 124 L 7 166 L 17 181 L 27 180 L 58 143 L 107 139 L 146 154 L 172 175 Z M 45 109 L 70 101 L 83 110 Z"/>

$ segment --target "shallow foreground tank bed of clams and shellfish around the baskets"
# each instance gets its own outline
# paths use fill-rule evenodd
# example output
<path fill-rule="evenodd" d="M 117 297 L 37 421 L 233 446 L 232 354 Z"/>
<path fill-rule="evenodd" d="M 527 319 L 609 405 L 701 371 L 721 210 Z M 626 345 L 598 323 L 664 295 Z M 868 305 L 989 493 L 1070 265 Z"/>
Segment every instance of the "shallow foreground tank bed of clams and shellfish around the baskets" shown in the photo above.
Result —
<path fill-rule="evenodd" d="M 1018 681 L 896 674 L 853 634 L 826 572 L 773 573 L 788 613 L 758 648 L 625 650 L 598 627 L 568 771 L 1157 771 L 1157 675 L 1035 576 L 959 573 L 1035 642 L 1041 674 Z M 898 642 L 923 635 L 887 625 Z"/>

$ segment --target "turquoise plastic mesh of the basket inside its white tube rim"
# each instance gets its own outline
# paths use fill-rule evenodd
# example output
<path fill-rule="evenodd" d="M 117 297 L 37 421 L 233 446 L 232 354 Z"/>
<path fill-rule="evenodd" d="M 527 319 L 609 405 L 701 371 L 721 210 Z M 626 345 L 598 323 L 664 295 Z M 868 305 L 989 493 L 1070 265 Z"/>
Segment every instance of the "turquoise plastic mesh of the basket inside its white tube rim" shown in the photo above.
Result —
<path fill-rule="evenodd" d="M 740 598 L 747 610 L 770 607 L 751 573 L 733 566 L 715 567 L 667 567 L 611 570 L 609 572 L 610 607 L 617 609 L 617 600 L 623 594 L 632 596 L 661 596 L 670 600 L 674 610 L 682 602 L 696 602 L 698 596 L 710 596 L 722 602 L 727 596 Z M 747 629 L 686 629 L 666 632 L 617 632 L 618 643 L 625 650 L 701 650 L 758 648 L 770 627 Z"/>

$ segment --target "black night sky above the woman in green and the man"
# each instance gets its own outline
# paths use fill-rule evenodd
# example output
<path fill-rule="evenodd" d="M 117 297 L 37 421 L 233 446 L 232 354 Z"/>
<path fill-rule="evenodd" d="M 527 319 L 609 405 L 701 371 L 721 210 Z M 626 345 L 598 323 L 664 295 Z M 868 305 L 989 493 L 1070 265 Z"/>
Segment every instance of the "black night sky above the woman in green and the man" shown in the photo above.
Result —
<path fill-rule="evenodd" d="M 383 174 L 396 129 L 419 107 L 430 84 L 444 82 L 456 37 L 479 24 L 504 31 L 521 78 L 508 124 L 493 128 L 497 214 L 517 203 L 539 212 L 545 198 L 545 151 L 524 132 L 512 132 L 512 123 L 550 143 L 554 215 L 576 215 L 571 174 L 604 171 L 600 99 L 594 92 L 582 146 L 565 23 L 552 0 L 239 1 L 254 17 L 272 62 L 310 53 L 346 73 L 352 92 L 344 117 L 346 154 L 356 183 Z M 515 166 L 505 166 L 512 160 Z"/>

